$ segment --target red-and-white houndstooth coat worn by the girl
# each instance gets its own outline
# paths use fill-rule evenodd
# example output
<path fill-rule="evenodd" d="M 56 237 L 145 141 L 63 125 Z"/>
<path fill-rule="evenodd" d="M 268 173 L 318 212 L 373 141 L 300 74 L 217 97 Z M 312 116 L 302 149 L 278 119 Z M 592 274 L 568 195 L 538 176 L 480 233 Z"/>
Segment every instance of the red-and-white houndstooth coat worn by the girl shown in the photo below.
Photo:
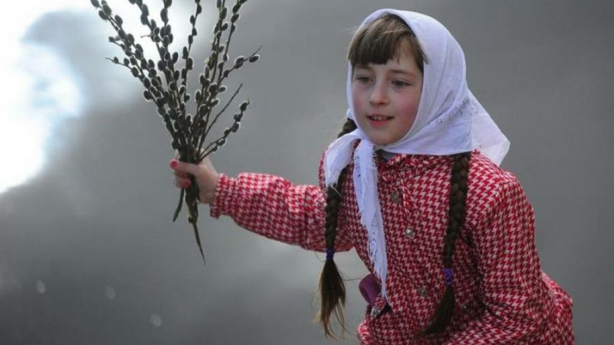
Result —
<path fill-rule="evenodd" d="M 319 186 L 294 185 L 270 174 L 221 174 L 211 215 L 229 215 L 267 238 L 323 252 L 322 163 L 323 157 Z M 378 156 L 376 164 L 388 300 L 378 297 L 367 306 L 357 334 L 361 344 L 573 344 L 572 300 L 540 268 L 534 212 L 523 188 L 477 150 L 469 166 L 467 220 L 454 251 L 454 316 L 444 333 L 416 337 L 429 324 L 444 289 L 452 161 L 449 156 L 395 155 Z M 373 273 L 352 165 L 348 170 L 335 249 L 355 248 Z"/>

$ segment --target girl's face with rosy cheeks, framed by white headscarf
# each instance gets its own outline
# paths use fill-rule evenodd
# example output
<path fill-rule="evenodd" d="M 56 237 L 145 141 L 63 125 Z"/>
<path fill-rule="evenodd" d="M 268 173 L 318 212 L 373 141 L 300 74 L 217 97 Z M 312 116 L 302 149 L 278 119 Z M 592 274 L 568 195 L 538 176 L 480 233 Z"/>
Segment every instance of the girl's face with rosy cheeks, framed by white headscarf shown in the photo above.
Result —
<path fill-rule="evenodd" d="M 405 48 L 405 47 L 403 47 Z M 422 95 L 422 72 L 408 49 L 386 64 L 357 64 L 352 74 L 352 106 L 360 128 L 376 145 L 402 139 L 410 131 Z"/>

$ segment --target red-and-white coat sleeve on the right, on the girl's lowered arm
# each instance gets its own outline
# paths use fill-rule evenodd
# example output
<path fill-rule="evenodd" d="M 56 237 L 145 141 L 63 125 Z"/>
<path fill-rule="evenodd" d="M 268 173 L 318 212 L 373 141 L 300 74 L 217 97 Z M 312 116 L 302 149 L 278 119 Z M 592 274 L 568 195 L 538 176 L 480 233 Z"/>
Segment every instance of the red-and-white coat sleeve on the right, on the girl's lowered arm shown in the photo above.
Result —
<path fill-rule="evenodd" d="M 518 180 L 499 188 L 485 226 L 474 230 L 486 311 L 445 344 L 528 344 L 548 318 L 535 249 L 534 211 Z"/>

